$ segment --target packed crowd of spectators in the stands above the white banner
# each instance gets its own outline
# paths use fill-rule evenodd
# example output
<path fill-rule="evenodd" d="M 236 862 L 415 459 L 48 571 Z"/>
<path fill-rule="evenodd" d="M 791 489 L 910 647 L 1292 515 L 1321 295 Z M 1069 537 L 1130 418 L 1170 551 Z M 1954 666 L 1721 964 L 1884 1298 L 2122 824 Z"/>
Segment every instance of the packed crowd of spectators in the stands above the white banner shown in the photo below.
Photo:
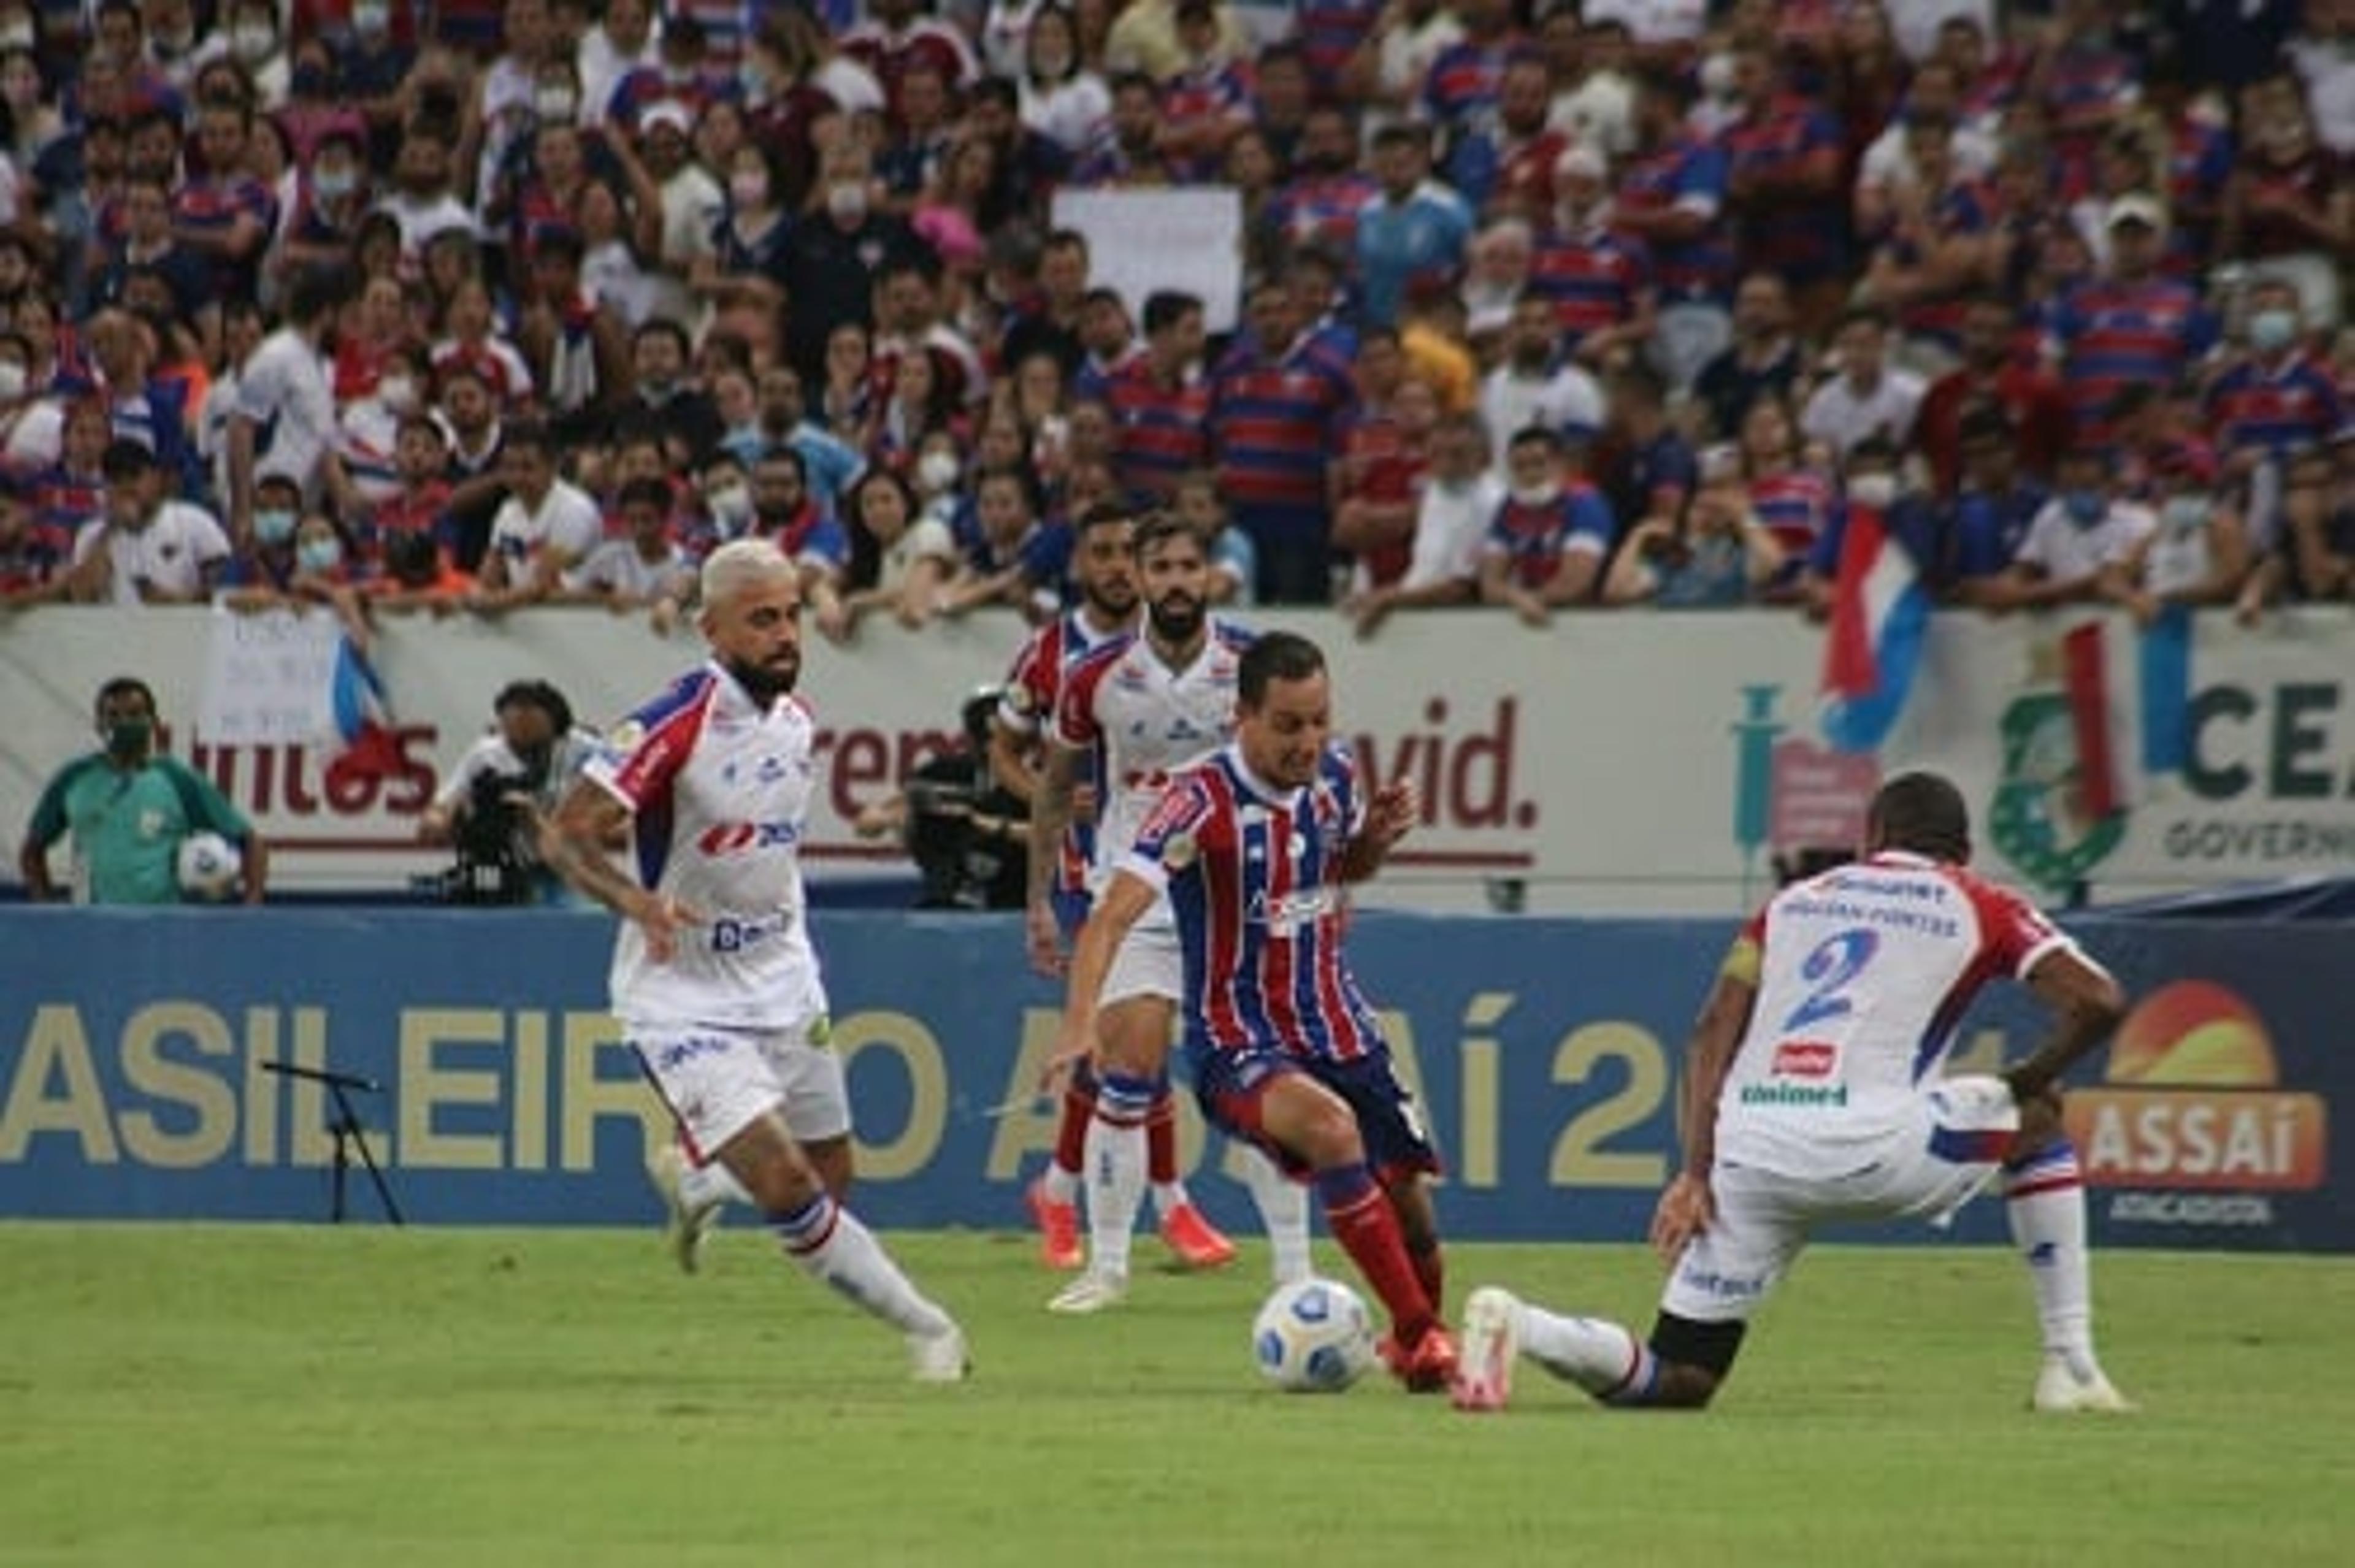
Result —
<path fill-rule="evenodd" d="M 2350 155 L 2355 0 L 0 0 L 0 603 L 2343 600 Z"/>

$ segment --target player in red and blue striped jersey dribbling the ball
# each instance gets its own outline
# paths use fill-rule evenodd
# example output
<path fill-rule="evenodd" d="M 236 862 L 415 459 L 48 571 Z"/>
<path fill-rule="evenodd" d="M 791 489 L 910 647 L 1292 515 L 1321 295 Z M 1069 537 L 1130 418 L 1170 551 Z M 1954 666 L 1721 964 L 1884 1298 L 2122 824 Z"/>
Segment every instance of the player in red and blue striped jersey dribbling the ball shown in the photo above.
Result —
<path fill-rule="evenodd" d="M 1267 633 L 1236 671 L 1234 739 L 1180 772 L 1097 897 L 1072 956 L 1057 1059 L 1095 1038 L 1133 928 L 1168 904 L 1185 956 L 1185 1052 L 1215 1128 L 1314 1182 L 1333 1238 L 1389 1309 L 1408 1389 L 1455 1375 L 1425 1177 L 1439 1156 L 1342 958 L 1345 890 L 1420 812 L 1411 784 L 1366 793 L 1333 742 L 1324 655 Z"/>

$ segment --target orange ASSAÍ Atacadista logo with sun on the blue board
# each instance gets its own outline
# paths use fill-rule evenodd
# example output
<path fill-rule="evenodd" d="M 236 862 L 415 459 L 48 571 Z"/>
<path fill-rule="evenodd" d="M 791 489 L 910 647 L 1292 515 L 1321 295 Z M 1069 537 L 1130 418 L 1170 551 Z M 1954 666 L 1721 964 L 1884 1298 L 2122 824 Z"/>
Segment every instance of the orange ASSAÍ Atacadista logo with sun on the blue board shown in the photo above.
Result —
<path fill-rule="evenodd" d="M 2266 1019 L 2225 986 L 2178 979 L 2145 996 L 2110 1043 L 2105 1078 L 2068 1097 L 2068 1130 L 2094 1187 L 2322 1187 L 2329 1107 L 2320 1095 L 2280 1088 Z M 2244 1205 L 2150 1203 L 2122 1212 L 2112 1203 L 2110 1212 L 2155 1224 L 2256 1224 Z M 2190 1217 L 2209 1212 L 2216 1217 Z"/>

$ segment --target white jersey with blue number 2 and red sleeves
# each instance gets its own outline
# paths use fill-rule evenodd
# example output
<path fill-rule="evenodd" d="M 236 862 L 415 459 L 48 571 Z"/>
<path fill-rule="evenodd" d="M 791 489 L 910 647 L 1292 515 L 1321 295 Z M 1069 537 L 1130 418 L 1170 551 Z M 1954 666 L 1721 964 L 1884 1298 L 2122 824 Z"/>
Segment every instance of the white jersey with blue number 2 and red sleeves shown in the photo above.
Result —
<path fill-rule="evenodd" d="M 1971 998 L 2075 951 L 2021 895 L 1896 852 L 1785 888 L 1743 942 L 1759 991 L 1717 1102 L 1717 1158 L 1787 1175 L 1870 1161 L 1910 1125 Z"/>

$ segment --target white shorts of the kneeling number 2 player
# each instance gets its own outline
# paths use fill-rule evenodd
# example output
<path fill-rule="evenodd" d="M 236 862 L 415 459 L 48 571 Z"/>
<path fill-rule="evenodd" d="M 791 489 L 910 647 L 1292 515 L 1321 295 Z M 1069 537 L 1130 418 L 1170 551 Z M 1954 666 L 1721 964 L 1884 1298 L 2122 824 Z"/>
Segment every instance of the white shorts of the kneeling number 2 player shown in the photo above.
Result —
<path fill-rule="evenodd" d="M 1719 1158 L 1710 1175 L 1717 1220 L 1677 1257 L 1660 1311 L 1693 1323 L 1747 1321 L 1823 1220 L 1948 1222 L 2002 1170 L 1995 1147 L 2018 1125 L 2021 1109 L 1999 1078 L 1948 1078 L 1882 1144 L 1858 1144 L 1842 1172 L 1795 1175 Z"/>

